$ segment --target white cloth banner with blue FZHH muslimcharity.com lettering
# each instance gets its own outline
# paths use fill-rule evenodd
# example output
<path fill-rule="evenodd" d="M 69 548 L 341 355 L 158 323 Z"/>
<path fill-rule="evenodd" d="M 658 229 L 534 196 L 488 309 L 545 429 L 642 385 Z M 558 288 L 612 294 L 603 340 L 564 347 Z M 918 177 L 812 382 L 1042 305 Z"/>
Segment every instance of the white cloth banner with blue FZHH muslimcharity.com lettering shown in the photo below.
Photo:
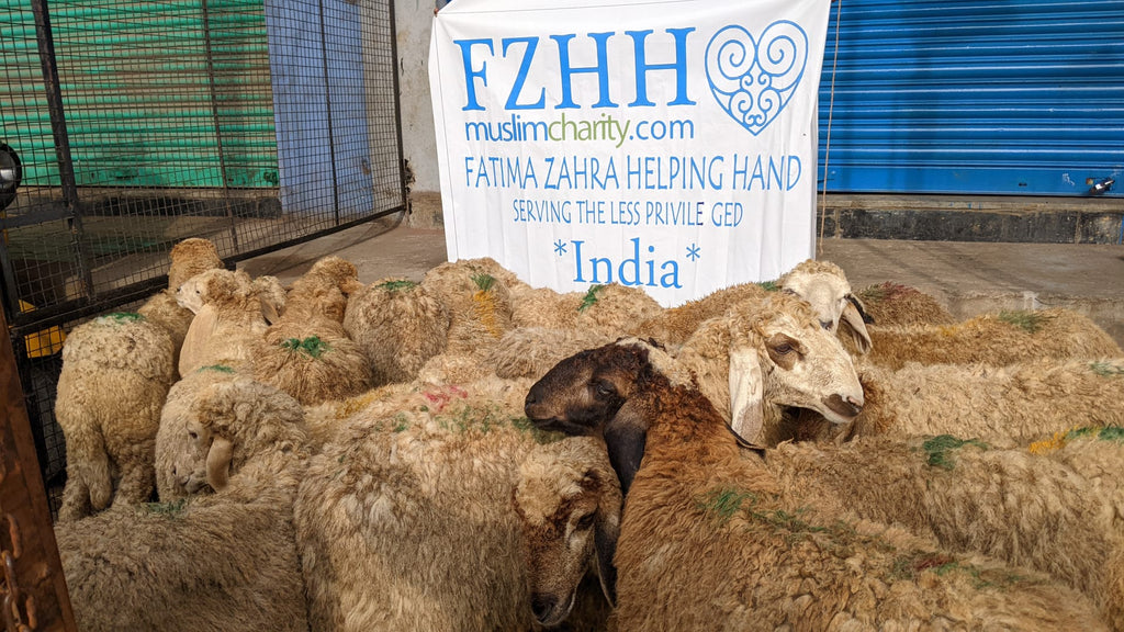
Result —
<path fill-rule="evenodd" d="M 665 307 L 815 250 L 830 0 L 454 0 L 429 49 L 451 261 Z"/>

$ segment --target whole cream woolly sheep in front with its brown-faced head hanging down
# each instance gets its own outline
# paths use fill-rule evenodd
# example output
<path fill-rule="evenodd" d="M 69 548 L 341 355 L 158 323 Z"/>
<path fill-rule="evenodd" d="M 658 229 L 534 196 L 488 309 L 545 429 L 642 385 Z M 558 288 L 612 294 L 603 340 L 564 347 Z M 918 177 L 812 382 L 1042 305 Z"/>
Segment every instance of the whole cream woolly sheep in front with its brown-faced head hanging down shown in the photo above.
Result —
<path fill-rule="evenodd" d="M 298 496 L 312 628 L 527 630 L 565 616 L 592 530 L 611 541 L 618 520 L 604 446 L 537 445 L 525 419 L 474 396 L 372 413 L 311 460 Z"/>

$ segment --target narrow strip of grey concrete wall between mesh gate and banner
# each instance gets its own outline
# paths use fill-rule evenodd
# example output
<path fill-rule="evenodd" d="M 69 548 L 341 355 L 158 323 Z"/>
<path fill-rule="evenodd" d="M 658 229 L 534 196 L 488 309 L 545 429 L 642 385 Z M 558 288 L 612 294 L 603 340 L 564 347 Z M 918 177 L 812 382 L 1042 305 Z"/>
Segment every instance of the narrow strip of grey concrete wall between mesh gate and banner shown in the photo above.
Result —
<path fill-rule="evenodd" d="M 411 226 L 441 226 L 441 179 L 429 98 L 429 30 L 442 0 L 395 0 L 402 155 L 410 170 Z M 409 178 L 409 177 L 408 177 Z"/>

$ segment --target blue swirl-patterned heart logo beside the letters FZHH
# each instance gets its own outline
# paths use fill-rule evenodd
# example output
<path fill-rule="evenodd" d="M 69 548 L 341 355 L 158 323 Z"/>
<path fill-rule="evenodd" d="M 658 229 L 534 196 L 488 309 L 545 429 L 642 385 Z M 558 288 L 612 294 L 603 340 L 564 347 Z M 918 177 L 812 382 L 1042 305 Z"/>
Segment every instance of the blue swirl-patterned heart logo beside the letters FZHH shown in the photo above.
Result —
<path fill-rule="evenodd" d="M 808 61 L 808 36 L 796 22 L 774 21 L 760 40 L 731 25 L 706 46 L 706 78 L 722 109 L 754 136 L 796 92 Z"/>

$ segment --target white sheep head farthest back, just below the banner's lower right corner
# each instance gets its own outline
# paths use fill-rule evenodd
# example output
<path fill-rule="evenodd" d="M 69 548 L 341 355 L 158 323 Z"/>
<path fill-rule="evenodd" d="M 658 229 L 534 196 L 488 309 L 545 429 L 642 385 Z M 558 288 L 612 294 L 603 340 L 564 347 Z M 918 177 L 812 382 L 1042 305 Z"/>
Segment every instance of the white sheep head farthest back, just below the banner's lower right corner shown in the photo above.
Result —
<path fill-rule="evenodd" d="M 870 351 L 870 334 L 865 325 L 869 317 L 862 303 L 851 291 L 851 283 L 842 268 L 809 259 L 785 274 L 780 286 L 806 300 L 825 329 L 835 333 L 842 324 L 860 352 Z"/>

